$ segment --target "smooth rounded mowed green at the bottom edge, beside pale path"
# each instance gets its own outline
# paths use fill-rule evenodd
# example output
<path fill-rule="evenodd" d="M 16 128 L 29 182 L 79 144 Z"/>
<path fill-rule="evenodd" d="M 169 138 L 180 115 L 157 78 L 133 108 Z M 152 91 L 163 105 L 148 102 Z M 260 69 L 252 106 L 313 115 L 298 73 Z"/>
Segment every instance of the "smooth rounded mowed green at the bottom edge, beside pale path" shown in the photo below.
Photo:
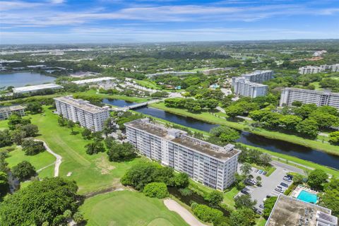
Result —
<path fill-rule="evenodd" d="M 87 225 L 184 226 L 177 214 L 161 199 L 148 198 L 134 191 L 114 191 L 85 200 L 80 208 Z"/>

